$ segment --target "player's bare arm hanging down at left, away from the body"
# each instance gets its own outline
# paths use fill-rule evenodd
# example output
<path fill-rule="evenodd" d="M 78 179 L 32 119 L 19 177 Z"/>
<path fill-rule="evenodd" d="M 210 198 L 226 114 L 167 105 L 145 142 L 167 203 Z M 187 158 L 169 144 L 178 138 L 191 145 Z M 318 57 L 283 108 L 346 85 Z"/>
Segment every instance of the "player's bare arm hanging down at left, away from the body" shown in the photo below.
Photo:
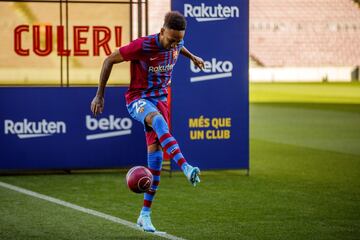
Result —
<path fill-rule="evenodd" d="M 102 113 L 104 109 L 105 87 L 109 79 L 112 66 L 123 61 L 124 59 L 121 56 L 119 49 L 116 49 L 112 54 L 105 58 L 101 68 L 98 90 L 96 92 L 96 96 L 91 102 L 91 112 L 94 114 L 94 116 Z"/>

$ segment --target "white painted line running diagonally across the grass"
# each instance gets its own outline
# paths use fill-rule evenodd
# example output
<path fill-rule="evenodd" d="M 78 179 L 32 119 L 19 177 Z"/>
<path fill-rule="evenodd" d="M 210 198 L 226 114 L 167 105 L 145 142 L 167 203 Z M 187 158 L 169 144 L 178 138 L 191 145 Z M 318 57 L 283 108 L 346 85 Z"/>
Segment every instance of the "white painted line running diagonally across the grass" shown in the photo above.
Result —
<path fill-rule="evenodd" d="M 143 231 L 136 224 L 134 224 L 132 222 L 129 222 L 129 221 L 126 221 L 124 219 L 118 218 L 118 217 L 114 217 L 114 216 L 111 216 L 111 215 L 108 215 L 108 214 L 105 214 L 105 213 L 102 213 L 102 212 L 98 212 L 98 211 L 95 211 L 95 210 L 92 210 L 92 209 L 89 209 L 89 208 L 84 208 L 84 207 L 81 207 L 79 205 L 75 205 L 75 204 L 72 204 L 72 203 L 69 203 L 69 202 L 65 202 L 65 201 L 57 199 L 57 198 L 46 196 L 46 195 L 43 195 L 43 194 L 40 194 L 40 193 L 37 193 L 37 192 L 33 192 L 33 191 L 30 191 L 30 190 L 27 190 L 27 189 L 24 189 L 24 188 L 20 188 L 20 187 L 17 187 L 17 186 L 8 184 L 8 183 L 4 183 L 4 182 L 1 182 L 1 181 L 0 181 L 0 186 L 3 187 L 3 188 L 7 188 L 7 189 L 10 189 L 10 190 L 22 193 L 22 194 L 26 194 L 26 195 L 29 195 L 29 196 L 32 196 L 32 197 L 40 198 L 42 200 L 52 202 L 52 203 L 55 203 L 55 204 L 58 204 L 58 205 L 61 205 L 61 206 L 64 206 L 64 207 L 72 208 L 74 210 L 77 210 L 77 211 L 80 211 L 80 212 L 83 212 L 83 213 L 87 213 L 87 214 L 90 214 L 90 215 L 93 215 L 93 216 L 96 216 L 96 217 L 100 217 L 100 218 L 106 219 L 108 221 L 115 222 L 115 223 L 124 225 L 126 227 L 129 227 L 129 228 L 132 228 L 132 229 L 135 229 L 135 230 L 138 230 L 138 231 Z M 163 237 L 163 238 L 171 239 L 171 240 L 185 240 L 184 238 L 176 237 L 174 235 L 167 234 L 167 233 L 155 232 L 155 233 L 149 233 L 149 234 L 157 235 L 159 237 Z"/>

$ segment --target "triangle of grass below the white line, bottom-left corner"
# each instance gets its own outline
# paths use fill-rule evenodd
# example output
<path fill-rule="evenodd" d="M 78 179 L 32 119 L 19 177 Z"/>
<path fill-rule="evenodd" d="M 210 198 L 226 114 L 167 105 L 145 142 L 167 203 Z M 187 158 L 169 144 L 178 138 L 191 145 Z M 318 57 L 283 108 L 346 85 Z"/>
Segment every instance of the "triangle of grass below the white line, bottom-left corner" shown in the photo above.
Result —
<path fill-rule="evenodd" d="M 0 239 L 156 239 L 11 190 L 0 196 Z"/>

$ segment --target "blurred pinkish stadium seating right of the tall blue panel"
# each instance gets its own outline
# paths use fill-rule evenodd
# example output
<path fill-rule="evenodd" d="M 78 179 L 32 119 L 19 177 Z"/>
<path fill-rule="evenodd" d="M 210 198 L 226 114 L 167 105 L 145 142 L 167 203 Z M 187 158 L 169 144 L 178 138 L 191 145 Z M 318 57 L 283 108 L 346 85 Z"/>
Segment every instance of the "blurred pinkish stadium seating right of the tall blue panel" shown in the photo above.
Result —
<path fill-rule="evenodd" d="M 251 0 L 252 66 L 360 64 L 360 7 L 352 0 Z"/>

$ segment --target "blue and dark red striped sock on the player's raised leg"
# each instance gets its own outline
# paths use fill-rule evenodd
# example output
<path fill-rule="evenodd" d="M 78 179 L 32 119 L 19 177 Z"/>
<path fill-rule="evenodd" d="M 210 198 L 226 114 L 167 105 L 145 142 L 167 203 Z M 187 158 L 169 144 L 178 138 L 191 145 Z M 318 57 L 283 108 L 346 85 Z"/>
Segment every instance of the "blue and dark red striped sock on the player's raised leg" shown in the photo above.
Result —
<path fill-rule="evenodd" d="M 187 165 L 186 160 L 180 151 L 177 141 L 170 134 L 169 127 L 162 115 L 158 114 L 153 117 L 152 128 L 158 136 L 163 150 L 184 170 L 184 167 Z"/>

